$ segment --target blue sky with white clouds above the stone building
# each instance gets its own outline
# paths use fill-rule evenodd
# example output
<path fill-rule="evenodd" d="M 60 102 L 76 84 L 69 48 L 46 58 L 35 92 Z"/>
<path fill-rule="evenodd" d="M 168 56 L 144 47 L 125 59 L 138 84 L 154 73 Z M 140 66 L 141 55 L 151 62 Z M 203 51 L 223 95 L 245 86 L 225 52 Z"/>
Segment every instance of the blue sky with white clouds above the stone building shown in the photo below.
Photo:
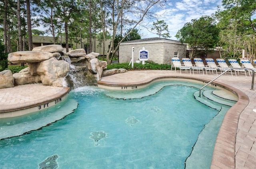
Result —
<path fill-rule="evenodd" d="M 191 22 L 192 19 L 199 19 L 201 16 L 210 16 L 221 5 L 222 0 L 166 0 L 166 9 L 158 12 L 162 14 L 158 20 L 164 20 L 168 25 L 171 35 L 168 39 L 177 40 L 175 35 L 185 23 Z M 142 30 L 140 33 L 142 33 L 142 39 L 157 37 L 156 34 L 147 30 Z"/>

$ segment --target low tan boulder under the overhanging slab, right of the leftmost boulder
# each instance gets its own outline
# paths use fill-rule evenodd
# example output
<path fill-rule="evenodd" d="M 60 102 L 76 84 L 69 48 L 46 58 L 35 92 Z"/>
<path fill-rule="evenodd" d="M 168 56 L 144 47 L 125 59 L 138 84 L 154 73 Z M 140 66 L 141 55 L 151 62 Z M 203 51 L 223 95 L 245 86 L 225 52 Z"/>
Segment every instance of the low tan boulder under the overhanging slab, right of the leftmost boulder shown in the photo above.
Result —
<path fill-rule="evenodd" d="M 39 75 L 31 75 L 29 67 L 22 69 L 19 73 L 14 73 L 12 75 L 14 77 L 15 85 L 26 85 L 32 83 L 40 83 L 41 77 Z"/>

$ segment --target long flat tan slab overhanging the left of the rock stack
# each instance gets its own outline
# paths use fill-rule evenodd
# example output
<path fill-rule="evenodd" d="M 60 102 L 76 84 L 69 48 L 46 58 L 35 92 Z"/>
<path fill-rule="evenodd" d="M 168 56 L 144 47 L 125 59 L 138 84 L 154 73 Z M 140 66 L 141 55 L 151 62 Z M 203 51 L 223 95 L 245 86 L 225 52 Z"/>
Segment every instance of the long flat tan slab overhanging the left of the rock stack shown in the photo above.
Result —
<path fill-rule="evenodd" d="M 8 61 L 13 64 L 18 63 L 35 63 L 40 61 L 45 61 L 54 57 L 50 52 L 41 51 L 17 51 L 8 54 Z"/>

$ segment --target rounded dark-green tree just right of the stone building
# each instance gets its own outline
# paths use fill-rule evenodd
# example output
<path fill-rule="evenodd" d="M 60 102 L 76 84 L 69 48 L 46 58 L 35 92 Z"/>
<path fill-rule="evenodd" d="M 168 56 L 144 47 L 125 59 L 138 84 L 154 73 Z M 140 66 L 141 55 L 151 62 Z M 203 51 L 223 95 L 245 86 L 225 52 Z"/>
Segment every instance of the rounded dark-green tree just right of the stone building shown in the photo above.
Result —
<path fill-rule="evenodd" d="M 175 37 L 181 43 L 187 43 L 190 49 L 189 57 L 194 58 L 194 55 L 200 51 L 209 52 L 218 42 L 219 29 L 213 18 L 210 16 L 202 16 L 198 20 L 193 19 L 191 22 L 184 24 Z"/>

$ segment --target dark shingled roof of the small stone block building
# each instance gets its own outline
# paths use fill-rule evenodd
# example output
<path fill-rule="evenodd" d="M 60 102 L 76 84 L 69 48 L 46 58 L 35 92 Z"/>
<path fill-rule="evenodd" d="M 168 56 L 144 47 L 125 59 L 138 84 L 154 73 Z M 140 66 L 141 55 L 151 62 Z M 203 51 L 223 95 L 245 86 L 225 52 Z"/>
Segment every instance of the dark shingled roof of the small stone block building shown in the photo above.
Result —
<path fill-rule="evenodd" d="M 125 43 L 136 44 L 136 43 L 162 43 L 162 42 L 182 44 L 180 41 L 176 41 L 176 40 L 172 40 L 172 39 L 165 39 L 165 38 L 161 38 L 161 37 L 150 37 L 150 38 L 145 38 L 145 39 L 136 39 L 136 40 L 132 40 L 132 41 L 124 41 L 120 45 L 125 45 Z M 186 45 L 186 44 L 184 44 L 184 45 Z"/>

